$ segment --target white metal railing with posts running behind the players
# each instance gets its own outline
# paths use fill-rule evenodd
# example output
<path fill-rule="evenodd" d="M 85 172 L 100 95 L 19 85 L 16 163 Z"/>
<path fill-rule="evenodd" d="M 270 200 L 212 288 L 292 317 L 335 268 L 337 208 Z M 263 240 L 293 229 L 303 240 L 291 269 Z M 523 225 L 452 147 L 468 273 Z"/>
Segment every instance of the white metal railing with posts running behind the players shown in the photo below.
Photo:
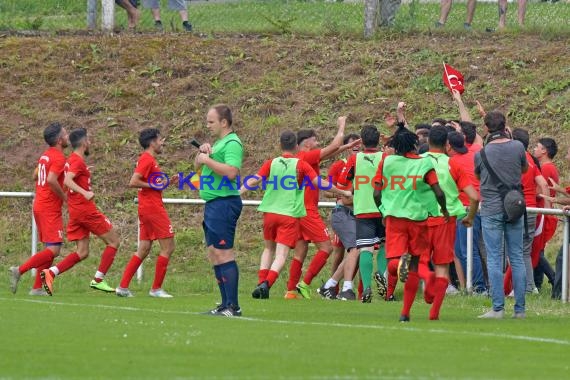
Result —
<path fill-rule="evenodd" d="M 34 198 L 34 193 L 28 192 L 0 192 L 0 198 Z M 135 198 L 135 203 L 137 199 Z M 177 199 L 177 198 L 164 198 L 163 202 L 165 204 L 179 204 L 179 205 L 203 205 L 206 202 L 202 199 Z M 244 206 L 259 206 L 261 201 L 255 200 L 243 200 Z M 336 206 L 334 202 L 319 202 L 320 208 L 333 208 Z M 31 207 L 30 207 L 31 210 Z M 563 244 L 562 244 L 562 302 L 568 302 L 568 246 L 570 244 L 569 234 L 570 234 L 570 214 L 564 213 L 562 210 L 558 209 L 545 209 L 545 208 L 535 208 L 528 207 L 527 212 L 530 214 L 543 214 L 543 215 L 557 215 L 563 216 L 564 220 L 564 232 L 563 232 Z M 34 220 L 33 213 L 31 221 L 31 254 L 35 255 L 37 252 L 38 245 L 38 234 L 36 228 L 36 222 Z M 138 226 L 137 226 L 138 230 Z M 140 240 L 140 230 L 137 231 L 137 245 Z M 467 229 L 467 268 L 466 268 L 466 288 L 467 292 L 470 293 L 473 288 L 473 229 Z M 142 264 L 137 271 L 137 280 L 142 279 L 143 269 Z"/>

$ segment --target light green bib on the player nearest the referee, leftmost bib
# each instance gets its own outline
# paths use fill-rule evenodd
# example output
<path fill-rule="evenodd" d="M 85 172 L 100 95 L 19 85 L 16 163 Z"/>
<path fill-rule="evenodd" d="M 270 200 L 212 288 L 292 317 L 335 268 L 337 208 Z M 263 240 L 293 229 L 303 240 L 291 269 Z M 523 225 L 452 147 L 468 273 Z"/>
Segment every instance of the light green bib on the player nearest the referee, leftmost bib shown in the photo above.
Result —
<path fill-rule="evenodd" d="M 265 194 L 258 211 L 300 218 L 307 215 L 305 191 L 297 182 L 298 158 L 277 157 L 271 161 Z"/>

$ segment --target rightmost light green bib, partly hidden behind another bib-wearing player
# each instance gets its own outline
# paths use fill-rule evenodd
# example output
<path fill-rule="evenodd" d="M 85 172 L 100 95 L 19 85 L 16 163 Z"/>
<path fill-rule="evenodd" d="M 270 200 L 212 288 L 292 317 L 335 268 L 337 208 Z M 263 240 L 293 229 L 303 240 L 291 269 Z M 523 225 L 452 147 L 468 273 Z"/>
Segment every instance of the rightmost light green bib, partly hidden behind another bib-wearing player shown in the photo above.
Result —
<path fill-rule="evenodd" d="M 449 215 L 463 218 L 467 212 L 459 200 L 457 184 L 449 172 L 449 156 L 445 153 L 428 152 L 422 154 L 422 157 L 429 158 L 435 168 L 439 186 L 445 194 L 445 204 Z M 443 216 L 443 214 L 439 212 L 438 216 Z"/>

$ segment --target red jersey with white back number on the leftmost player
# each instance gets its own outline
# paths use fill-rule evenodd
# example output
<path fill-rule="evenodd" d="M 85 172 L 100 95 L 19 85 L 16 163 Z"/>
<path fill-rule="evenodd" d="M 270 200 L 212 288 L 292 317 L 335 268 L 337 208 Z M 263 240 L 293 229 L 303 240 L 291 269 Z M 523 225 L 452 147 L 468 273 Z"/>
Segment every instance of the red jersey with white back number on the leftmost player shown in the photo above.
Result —
<path fill-rule="evenodd" d="M 36 182 L 36 197 L 34 199 L 34 211 L 57 211 L 61 212 L 63 201 L 54 193 L 47 183 L 49 173 L 57 175 L 57 182 L 63 187 L 63 167 L 65 156 L 57 148 L 48 148 L 38 160 L 38 181 Z"/>

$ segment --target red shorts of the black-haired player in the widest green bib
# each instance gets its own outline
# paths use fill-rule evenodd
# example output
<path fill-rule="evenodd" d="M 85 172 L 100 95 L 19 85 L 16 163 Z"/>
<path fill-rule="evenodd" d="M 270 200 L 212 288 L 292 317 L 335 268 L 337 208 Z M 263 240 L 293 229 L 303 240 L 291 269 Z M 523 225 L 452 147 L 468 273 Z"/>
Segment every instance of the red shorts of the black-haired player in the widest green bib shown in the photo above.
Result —
<path fill-rule="evenodd" d="M 425 222 L 387 216 L 386 258 L 393 259 L 410 253 L 414 256 L 429 254 L 428 227 Z"/>

